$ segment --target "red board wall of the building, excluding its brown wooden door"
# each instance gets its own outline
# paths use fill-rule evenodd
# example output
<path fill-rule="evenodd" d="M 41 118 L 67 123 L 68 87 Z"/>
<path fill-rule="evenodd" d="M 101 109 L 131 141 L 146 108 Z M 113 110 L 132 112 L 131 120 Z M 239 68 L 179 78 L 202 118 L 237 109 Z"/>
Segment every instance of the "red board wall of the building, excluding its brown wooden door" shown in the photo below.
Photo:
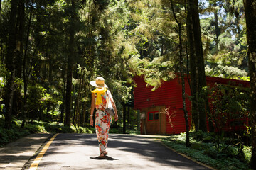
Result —
<path fill-rule="evenodd" d="M 186 94 L 191 95 L 191 91 L 188 85 L 188 79 L 186 80 Z M 137 87 L 134 88 L 134 109 L 142 110 L 142 108 L 151 108 L 154 106 L 166 106 L 169 108 L 169 114 L 176 113 L 176 116 L 171 120 L 174 125 L 171 127 L 169 119 L 166 117 L 166 134 L 178 134 L 186 132 L 185 119 L 182 106 L 181 96 L 181 79 L 175 78 L 170 81 L 164 81 L 159 89 L 151 91 L 152 86 L 146 87 L 143 77 L 135 77 L 134 81 Z M 206 77 L 208 86 L 213 84 L 229 84 L 232 81 L 234 86 L 238 84 L 249 87 L 249 81 L 239 81 L 233 79 L 223 79 L 217 77 Z M 188 111 L 188 119 L 191 124 L 191 101 L 186 97 L 186 108 Z"/>

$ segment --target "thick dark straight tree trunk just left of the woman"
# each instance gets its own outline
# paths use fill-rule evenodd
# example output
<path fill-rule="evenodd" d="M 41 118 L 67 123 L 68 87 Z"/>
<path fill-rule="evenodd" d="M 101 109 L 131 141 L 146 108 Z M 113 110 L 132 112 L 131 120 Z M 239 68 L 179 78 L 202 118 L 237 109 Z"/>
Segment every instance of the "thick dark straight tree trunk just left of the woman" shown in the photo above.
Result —
<path fill-rule="evenodd" d="M 70 13 L 70 26 L 69 26 L 69 43 L 68 43 L 68 68 L 67 68 L 67 88 L 65 94 L 65 126 L 71 125 L 71 102 L 72 102 L 72 77 L 73 77 L 73 57 L 74 57 L 74 43 L 75 43 L 75 30 L 73 28 L 75 21 L 75 2 L 71 2 L 72 12 Z"/>

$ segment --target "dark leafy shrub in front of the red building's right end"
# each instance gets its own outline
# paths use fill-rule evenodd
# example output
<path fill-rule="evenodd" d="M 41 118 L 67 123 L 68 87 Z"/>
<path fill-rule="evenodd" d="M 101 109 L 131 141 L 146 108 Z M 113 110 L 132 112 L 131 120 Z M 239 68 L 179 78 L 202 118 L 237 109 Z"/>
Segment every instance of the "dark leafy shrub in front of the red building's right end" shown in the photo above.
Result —
<path fill-rule="evenodd" d="M 232 145 L 238 145 L 239 152 L 242 152 L 243 138 L 250 137 L 246 121 L 250 116 L 249 91 L 242 86 L 215 84 L 208 89 L 208 94 L 212 108 L 208 118 L 215 132 L 215 152 L 211 148 L 206 154 L 215 158 L 238 155 L 238 150 L 235 151 Z M 233 135 L 233 139 L 226 138 L 227 134 Z M 239 157 L 244 159 L 245 154 L 240 154 Z"/>

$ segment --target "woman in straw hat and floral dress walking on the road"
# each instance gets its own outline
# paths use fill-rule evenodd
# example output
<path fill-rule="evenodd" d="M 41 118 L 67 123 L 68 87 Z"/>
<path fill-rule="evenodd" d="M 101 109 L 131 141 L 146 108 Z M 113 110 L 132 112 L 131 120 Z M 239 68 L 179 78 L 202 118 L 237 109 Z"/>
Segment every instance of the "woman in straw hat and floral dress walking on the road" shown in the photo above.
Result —
<path fill-rule="evenodd" d="M 90 81 L 92 86 L 96 89 L 92 91 L 92 103 L 90 110 L 90 125 L 93 126 L 93 111 L 96 108 L 95 129 L 97 134 L 97 140 L 100 147 L 100 158 L 103 158 L 106 154 L 108 133 L 110 130 L 110 124 L 112 122 L 112 116 L 105 111 L 107 97 L 110 98 L 112 106 L 114 108 L 114 120 L 118 120 L 117 107 L 114 103 L 112 95 L 107 90 L 107 85 L 102 77 L 97 77 L 95 81 Z"/>

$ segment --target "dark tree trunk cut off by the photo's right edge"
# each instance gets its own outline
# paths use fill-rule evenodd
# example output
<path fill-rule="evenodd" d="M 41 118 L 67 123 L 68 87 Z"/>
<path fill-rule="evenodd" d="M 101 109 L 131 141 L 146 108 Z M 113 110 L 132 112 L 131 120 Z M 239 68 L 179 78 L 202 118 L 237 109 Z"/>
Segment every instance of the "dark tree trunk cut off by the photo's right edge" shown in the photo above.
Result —
<path fill-rule="evenodd" d="M 244 0 L 250 72 L 250 120 L 252 124 L 251 169 L 256 169 L 256 3 Z"/>

